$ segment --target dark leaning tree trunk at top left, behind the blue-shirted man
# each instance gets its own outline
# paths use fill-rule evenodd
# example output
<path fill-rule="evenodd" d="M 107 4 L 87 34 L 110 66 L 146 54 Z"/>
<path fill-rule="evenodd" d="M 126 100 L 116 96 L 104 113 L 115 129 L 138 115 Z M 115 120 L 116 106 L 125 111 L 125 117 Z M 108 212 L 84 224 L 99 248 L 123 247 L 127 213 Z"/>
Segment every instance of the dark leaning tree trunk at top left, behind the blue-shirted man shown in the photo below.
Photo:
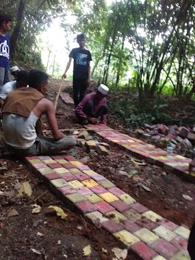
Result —
<path fill-rule="evenodd" d="M 12 36 L 10 38 L 10 47 L 11 47 L 10 55 L 11 55 L 11 57 L 16 53 L 17 40 L 18 40 L 18 36 L 21 33 L 23 19 L 24 19 L 25 3 L 26 3 L 26 0 L 21 0 L 18 5 L 16 25 L 14 27 Z"/>

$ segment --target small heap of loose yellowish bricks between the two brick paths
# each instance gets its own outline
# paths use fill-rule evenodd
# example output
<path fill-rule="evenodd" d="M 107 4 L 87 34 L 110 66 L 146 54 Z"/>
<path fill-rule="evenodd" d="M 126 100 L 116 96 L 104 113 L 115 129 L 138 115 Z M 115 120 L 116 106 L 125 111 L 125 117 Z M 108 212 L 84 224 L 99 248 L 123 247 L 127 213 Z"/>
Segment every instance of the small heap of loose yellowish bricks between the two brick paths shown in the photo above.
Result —
<path fill-rule="evenodd" d="M 75 131 L 73 135 L 77 138 L 77 145 L 86 148 L 87 153 L 96 152 L 99 155 L 107 155 L 109 153 L 109 144 L 93 140 L 88 131 Z"/>

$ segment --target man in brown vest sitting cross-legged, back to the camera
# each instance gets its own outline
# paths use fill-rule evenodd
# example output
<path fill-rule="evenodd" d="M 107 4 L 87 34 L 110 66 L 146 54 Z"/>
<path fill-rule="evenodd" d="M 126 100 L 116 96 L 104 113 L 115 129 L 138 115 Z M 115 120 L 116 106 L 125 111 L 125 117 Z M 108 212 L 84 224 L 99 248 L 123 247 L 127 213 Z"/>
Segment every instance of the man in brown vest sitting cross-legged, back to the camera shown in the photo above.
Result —
<path fill-rule="evenodd" d="M 30 155 L 55 155 L 73 148 L 76 139 L 60 132 L 51 101 L 44 98 L 49 76 L 41 70 L 31 70 L 29 88 L 19 88 L 8 94 L 3 103 L 3 141 L 8 149 L 25 157 Z M 45 114 L 53 138 L 36 133 L 36 122 Z"/>

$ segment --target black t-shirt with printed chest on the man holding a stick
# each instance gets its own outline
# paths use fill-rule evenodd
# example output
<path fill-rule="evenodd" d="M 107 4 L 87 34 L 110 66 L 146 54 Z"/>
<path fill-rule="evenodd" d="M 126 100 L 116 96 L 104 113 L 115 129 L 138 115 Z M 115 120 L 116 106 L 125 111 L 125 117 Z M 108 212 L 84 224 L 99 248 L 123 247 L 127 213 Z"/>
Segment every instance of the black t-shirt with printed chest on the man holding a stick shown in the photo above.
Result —
<path fill-rule="evenodd" d="M 90 51 L 75 48 L 70 51 L 69 57 L 74 59 L 73 78 L 88 79 L 88 62 L 92 60 Z"/>

